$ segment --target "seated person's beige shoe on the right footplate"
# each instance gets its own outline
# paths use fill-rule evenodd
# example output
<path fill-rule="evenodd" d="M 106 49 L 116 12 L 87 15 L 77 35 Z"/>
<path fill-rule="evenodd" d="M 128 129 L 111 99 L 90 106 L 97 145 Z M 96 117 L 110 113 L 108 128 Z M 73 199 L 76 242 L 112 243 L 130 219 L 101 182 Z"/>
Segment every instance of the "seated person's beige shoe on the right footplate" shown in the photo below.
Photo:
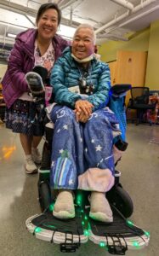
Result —
<path fill-rule="evenodd" d="M 91 193 L 89 217 L 105 223 L 113 221 L 111 207 L 105 197 L 105 193 Z"/>

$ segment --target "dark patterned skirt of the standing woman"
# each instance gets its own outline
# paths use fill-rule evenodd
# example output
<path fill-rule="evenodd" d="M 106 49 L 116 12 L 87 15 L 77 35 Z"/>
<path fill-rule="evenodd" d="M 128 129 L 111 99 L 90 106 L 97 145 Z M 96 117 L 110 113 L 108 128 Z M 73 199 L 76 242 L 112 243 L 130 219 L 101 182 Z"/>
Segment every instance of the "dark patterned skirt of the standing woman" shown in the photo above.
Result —
<path fill-rule="evenodd" d="M 45 117 L 42 102 L 16 100 L 11 108 L 6 108 L 6 127 L 28 136 L 43 136 Z"/>

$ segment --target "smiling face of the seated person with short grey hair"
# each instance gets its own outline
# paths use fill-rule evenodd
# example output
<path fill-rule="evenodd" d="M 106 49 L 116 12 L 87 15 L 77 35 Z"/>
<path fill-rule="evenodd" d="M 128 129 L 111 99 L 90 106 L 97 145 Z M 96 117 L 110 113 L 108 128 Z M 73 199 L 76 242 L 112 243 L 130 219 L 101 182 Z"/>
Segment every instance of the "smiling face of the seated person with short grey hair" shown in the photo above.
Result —
<path fill-rule="evenodd" d="M 71 52 L 82 60 L 94 53 L 94 32 L 88 27 L 77 30 L 71 44 Z"/>

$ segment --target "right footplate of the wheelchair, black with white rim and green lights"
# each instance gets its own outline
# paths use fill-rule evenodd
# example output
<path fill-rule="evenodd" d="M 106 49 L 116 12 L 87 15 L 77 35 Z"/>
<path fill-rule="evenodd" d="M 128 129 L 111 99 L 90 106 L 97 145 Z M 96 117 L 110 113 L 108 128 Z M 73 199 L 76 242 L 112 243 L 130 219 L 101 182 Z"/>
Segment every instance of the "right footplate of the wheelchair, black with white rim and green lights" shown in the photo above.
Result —
<path fill-rule="evenodd" d="M 100 246 L 107 247 L 111 254 L 125 255 L 128 249 L 140 249 L 148 245 L 150 235 L 135 226 L 131 221 L 112 208 L 113 223 L 104 224 L 89 218 L 89 239 Z"/>

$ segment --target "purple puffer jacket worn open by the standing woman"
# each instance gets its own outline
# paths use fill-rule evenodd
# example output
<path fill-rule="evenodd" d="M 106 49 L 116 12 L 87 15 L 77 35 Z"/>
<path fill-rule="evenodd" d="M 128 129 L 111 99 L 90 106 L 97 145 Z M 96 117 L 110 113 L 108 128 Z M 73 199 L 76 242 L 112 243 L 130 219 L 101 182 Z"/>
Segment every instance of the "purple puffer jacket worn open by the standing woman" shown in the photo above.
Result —
<path fill-rule="evenodd" d="M 8 69 L 3 77 L 3 98 L 8 108 L 12 106 L 25 91 L 28 90 L 25 74 L 34 67 L 34 48 L 37 38 L 36 29 L 28 29 L 21 32 L 15 39 L 14 48 L 9 56 Z M 60 57 L 62 51 L 69 43 L 55 35 L 53 39 L 55 61 Z"/>

